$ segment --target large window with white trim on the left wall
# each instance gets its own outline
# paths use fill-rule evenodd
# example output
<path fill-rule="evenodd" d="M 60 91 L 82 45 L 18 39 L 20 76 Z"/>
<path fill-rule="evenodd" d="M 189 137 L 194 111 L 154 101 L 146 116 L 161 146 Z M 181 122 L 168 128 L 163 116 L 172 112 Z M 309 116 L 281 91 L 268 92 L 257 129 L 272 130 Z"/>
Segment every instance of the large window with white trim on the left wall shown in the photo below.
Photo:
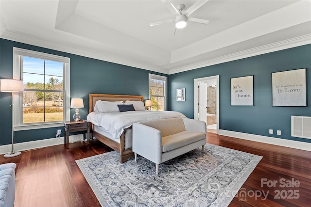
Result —
<path fill-rule="evenodd" d="M 14 79 L 24 82 L 14 129 L 63 126 L 69 120 L 69 58 L 20 48 L 14 58 Z"/>

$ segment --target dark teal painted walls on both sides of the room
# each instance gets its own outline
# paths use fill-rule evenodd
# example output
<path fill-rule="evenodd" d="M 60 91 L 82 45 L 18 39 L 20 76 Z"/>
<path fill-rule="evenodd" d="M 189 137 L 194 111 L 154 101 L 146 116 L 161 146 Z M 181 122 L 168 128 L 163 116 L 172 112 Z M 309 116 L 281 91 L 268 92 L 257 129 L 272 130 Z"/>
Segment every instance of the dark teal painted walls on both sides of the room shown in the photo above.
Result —
<path fill-rule="evenodd" d="M 13 78 L 13 47 L 25 48 L 70 58 L 70 96 L 82 97 L 88 112 L 88 94 L 129 94 L 148 98 L 148 74 L 158 74 L 139 68 L 113 64 L 79 55 L 35 47 L 0 39 L 0 79 Z M 308 107 L 273 107 L 271 73 L 307 68 Z M 311 143 L 310 139 L 291 137 L 291 115 L 311 116 L 311 45 L 290 48 L 242 60 L 232 61 L 172 74 L 168 77 L 168 110 L 180 111 L 193 118 L 194 79 L 220 75 L 220 129 L 279 137 Z M 254 106 L 230 105 L 230 79 L 254 75 Z M 176 102 L 176 89 L 186 89 L 186 101 Z M 71 98 L 70 97 L 70 98 Z M 0 145 L 11 143 L 11 94 L 0 93 Z M 72 117 L 74 109 L 70 110 Z M 55 136 L 59 127 L 15 132 L 15 143 L 48 139 Z M 270 135 L 269 128 L 282 131 Z M 62 134 L 63 136 L 63 134 Z"/>

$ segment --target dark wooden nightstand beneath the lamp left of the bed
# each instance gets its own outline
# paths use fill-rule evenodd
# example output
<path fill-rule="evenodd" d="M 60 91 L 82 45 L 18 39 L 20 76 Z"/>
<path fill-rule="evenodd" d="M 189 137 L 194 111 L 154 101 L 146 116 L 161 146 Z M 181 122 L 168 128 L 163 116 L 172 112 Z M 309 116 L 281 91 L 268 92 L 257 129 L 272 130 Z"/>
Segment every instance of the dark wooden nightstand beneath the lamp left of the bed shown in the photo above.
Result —
<path fill-rule="evenodd" d="M 91 122 L 89 121 L 69 121 L 69 122 L 64 122 L 64 128 L 65 128 L 65 144 L 66 148 L 69 148 L 69 132 L 75 132 L 75 131 L 84 131 L 83 133 L 83 138 L 85 139 L 86 131 L 87 131 L 87 144 L 89 144 L 89 127 L 90 127 Z"/>

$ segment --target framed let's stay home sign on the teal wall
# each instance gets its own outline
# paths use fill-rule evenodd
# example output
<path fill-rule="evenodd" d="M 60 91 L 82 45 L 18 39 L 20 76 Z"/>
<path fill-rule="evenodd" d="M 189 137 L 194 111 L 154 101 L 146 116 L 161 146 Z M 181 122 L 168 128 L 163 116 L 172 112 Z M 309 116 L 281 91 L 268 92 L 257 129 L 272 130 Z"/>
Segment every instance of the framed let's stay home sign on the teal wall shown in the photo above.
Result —
<path fill-rule="evenodd" d="M 231 106 L 254 106 L 254 76 L 231 79 Z"/>

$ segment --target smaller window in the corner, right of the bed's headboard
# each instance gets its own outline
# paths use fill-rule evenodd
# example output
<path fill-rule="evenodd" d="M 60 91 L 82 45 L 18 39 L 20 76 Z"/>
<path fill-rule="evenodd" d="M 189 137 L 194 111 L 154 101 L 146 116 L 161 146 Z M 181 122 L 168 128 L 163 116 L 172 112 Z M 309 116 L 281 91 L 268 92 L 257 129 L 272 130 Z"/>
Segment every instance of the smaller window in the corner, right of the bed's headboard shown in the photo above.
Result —
<path fill-rule="evenodd" d="M 166 110 L 166 77 L 149 74 L 149 97 L 152 111 Z"/>

